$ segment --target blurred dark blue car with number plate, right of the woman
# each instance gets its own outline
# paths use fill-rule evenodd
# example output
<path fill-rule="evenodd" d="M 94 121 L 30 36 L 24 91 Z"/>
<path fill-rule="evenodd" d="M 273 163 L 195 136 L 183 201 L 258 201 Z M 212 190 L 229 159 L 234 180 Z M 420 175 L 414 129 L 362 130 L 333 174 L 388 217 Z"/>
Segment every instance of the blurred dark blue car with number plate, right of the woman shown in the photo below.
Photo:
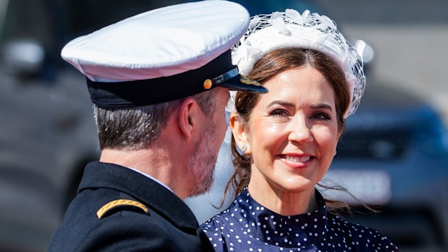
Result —
<path fill-rule="evenodd" d="M 447 132 L 427 103 L 381 84 L 367 84 L 328 179 L 379 206 L 377 216 L 355 214 L 353 221 L 381 230 L 403 251 L 447 251 Z"/>

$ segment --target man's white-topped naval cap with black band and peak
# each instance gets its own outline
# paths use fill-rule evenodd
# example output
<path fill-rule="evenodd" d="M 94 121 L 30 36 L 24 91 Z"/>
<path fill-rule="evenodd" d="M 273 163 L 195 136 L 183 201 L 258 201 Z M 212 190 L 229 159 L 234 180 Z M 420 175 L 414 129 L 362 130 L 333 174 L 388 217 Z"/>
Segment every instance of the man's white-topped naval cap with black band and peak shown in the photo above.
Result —
<path fill-rule="evenodd" d="M 87 77 L 98 106 L 158 104 L 216 86 L 267 92 L 232 65 L 230 48 L 246 32 L 249 18 L 231 1 L 182 3 L 75 38 L 61 55 Z"/>

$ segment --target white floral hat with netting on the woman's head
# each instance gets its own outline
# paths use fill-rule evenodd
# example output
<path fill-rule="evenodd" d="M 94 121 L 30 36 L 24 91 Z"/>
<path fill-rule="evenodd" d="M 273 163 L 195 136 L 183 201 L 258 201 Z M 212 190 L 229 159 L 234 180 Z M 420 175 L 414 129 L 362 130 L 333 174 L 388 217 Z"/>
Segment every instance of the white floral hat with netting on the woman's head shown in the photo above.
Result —
<path fill-rule="evenodd" d="M 239 73 L 247 75 L 258 60 L 279 48 L 317 50 L 339 64 L 346 76 L 351 104 L 344 118 L 353 114 L 360 104 L 365 89 L 363 48 L 356 48 L 337 30 L 336 23 L 325 15 L 305 10 L 286 9 L 267 15 L 255 15 L 246 34 L 232 48 L 232 64 Z M 359 54 L 358 54 L 359 53 Z"/>

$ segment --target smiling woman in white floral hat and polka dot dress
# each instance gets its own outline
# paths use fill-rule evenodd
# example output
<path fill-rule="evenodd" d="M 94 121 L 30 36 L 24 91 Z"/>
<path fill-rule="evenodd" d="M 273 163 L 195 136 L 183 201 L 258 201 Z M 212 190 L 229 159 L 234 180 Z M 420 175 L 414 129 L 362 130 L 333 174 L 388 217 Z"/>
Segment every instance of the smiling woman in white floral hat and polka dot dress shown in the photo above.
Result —
<path fill-rule="evenodd" d="M 331 214 L 314 188 L 365 86 L 360 57 L 335 23 L 309 11 L 258 15 L 234 49 L 240 73 L 269 92 L 236 94 L 236 200 L 202 224 L 216 251 L 398 251 Z"/>

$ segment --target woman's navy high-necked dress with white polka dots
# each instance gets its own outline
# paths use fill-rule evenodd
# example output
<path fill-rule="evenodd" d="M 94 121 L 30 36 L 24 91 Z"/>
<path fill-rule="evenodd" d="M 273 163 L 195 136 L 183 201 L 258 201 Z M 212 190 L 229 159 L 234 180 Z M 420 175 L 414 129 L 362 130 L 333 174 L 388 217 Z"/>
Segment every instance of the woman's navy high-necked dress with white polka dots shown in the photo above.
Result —
<path fill-rule="evenodd" d="M 281 216 L 255 202 L 246 188 L 201 228 L 215 251 L 398 251 L 377 230 L 328 213 L 317 191 L 316 197 L 320 209 Z"/>

